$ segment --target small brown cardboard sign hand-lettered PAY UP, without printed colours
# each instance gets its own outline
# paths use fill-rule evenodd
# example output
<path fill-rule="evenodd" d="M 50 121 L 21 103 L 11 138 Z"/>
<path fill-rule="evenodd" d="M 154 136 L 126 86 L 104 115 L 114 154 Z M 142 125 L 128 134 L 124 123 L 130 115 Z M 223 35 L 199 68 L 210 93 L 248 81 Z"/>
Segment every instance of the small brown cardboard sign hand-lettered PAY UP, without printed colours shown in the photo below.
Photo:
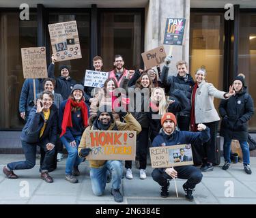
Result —
<path fill-rule="evenodd" d="M 145 67 L 147 69 L 160 65 L 165 61 L 166 52 L 164 46 L 148 50 L 141 54 Z"/>

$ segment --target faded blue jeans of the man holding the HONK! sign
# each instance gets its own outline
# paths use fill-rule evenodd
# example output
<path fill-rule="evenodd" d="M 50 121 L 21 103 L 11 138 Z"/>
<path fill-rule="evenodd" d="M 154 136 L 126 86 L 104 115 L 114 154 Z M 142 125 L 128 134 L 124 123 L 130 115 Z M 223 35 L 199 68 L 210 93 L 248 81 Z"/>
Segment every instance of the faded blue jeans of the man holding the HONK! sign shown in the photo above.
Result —
<path fill-rule="evenodd" d="M 91 189 L 96 196 L 102 196 L 106 187 L 106 171 L 112 174 L 112 188 L 120 189 L 123 168 L 121 161 L 109 160 L 101 168 L 91 168 Z"/>

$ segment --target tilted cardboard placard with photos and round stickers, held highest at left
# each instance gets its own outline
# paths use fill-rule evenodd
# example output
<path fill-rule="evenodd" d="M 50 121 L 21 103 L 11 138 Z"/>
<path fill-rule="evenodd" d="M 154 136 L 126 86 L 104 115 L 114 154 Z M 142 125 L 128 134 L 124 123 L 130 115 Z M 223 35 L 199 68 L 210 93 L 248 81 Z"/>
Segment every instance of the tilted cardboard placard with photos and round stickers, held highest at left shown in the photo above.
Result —
<path fill-rule="evenodd" d="M 53 54 L 57 61 L 81 59 L 81 47 L 76 20 L 48 25 Z"/>

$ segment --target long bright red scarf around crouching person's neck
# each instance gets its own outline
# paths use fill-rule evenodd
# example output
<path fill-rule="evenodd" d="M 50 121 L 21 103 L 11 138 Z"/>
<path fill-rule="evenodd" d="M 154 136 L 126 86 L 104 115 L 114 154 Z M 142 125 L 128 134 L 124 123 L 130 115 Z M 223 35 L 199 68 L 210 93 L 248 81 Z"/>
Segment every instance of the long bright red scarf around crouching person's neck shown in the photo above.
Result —
<path fill-rule="evenodd" d="M 74 102 L 72 99 L 68 99 L 66 106 L 64 108 L 64 114 L 63 114 L 63 120 L 61 123 L 61 136 L 63 136 L 66 133 L 67 127 L 73 127 L 72 125 L 72 114 L 71 109 L 72 108 L 81 108 L 82 118 L 83 118 L 83 124 L 85 127 L 87 127 L 87 121 L 88 121 L 88 114 L 87 114 L 87 106 L 85 105 L 85 102 L 82 100 L 81 102 Z"/>

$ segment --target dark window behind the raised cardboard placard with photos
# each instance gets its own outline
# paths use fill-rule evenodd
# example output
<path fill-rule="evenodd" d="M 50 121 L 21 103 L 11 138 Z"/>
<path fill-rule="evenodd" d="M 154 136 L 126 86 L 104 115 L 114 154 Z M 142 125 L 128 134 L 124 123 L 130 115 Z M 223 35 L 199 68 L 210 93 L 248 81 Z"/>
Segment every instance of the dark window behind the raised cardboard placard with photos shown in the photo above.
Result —
<path fill-rule="evenodd" d="M 90 49 L 90 26 L 89 13 L 50 13 L 49 23 L 67 22 L 76 20 L 77 29 L 79 31 L 79 42 L 81 46 L 82 58 L 70 61 L 61 61 L 55 63 L 55 76 L 59 76 L 59 67 L 67 65 L 70 67 L 70 76 L 76 82 L 82 82 L 85 76 L 85 70 L 89 69 L 89 49 Z M 49 39 L 49 47 L 52 54 L 51 40 Z"/>

